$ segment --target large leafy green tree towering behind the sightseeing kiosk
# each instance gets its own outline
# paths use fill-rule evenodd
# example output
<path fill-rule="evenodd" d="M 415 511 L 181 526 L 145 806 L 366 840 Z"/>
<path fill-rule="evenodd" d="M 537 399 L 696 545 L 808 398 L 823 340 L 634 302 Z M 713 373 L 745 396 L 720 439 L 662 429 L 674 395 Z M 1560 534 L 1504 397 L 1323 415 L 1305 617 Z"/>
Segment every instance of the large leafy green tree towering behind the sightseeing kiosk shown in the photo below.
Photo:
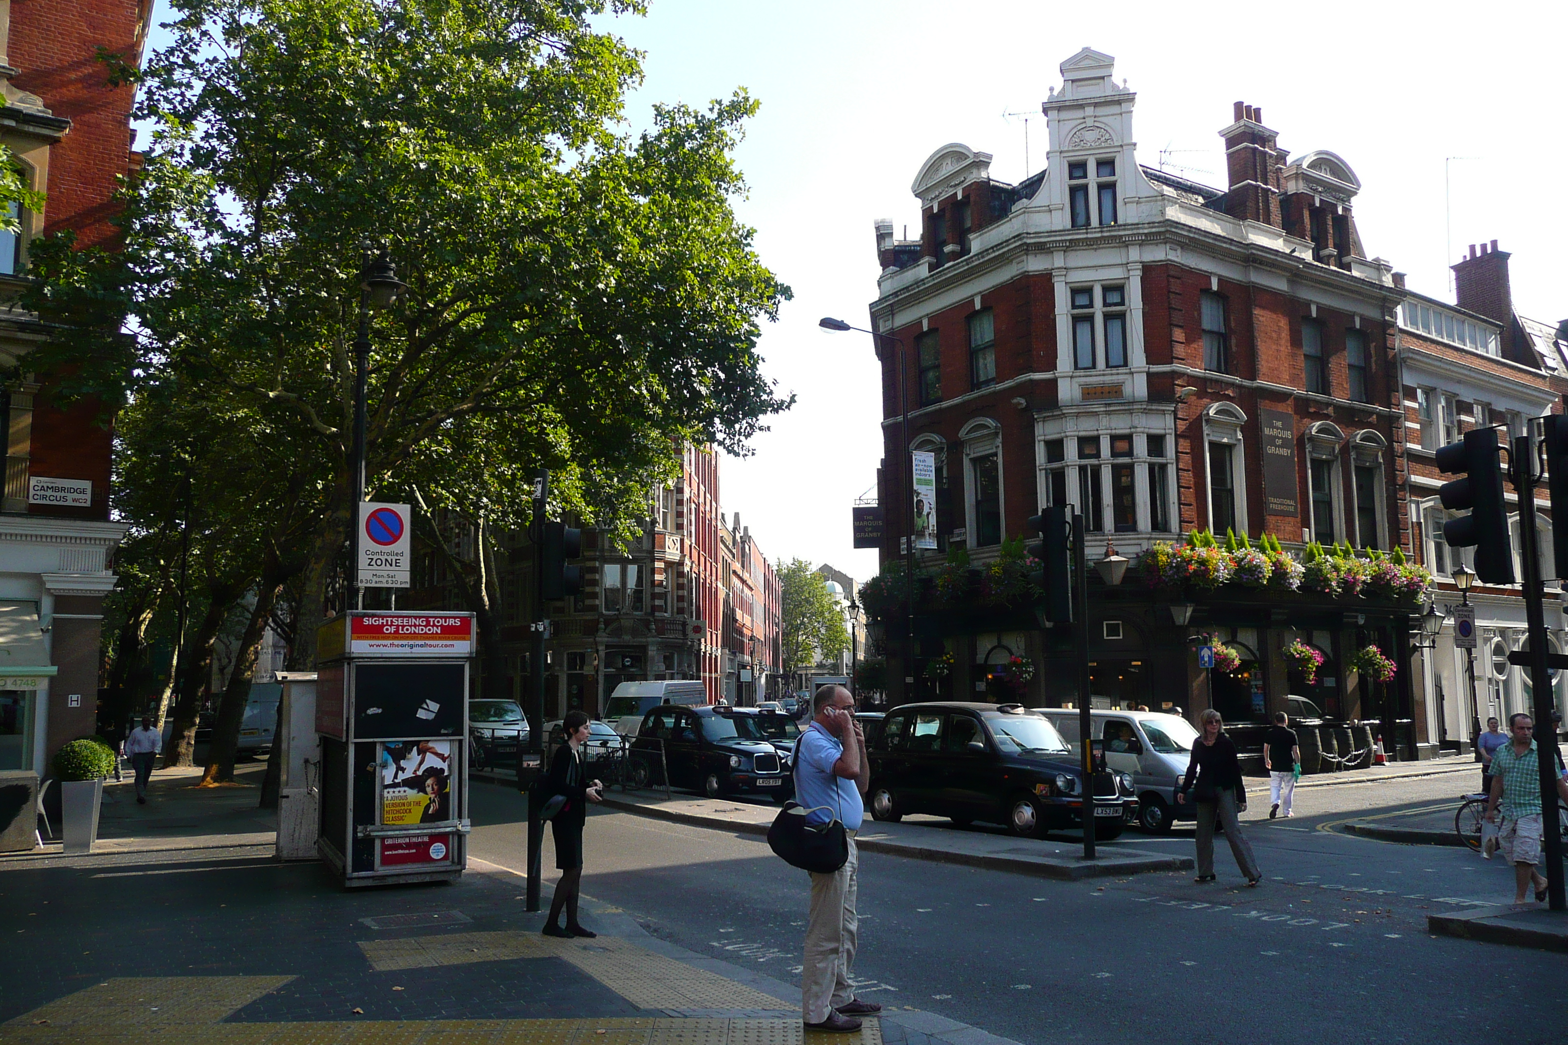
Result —
<path fill-rule="evenodd" d="M 478 508 L 522 500 L 506 465 L 543 465 L 560 506 L 624 525 L 646 492 L 605 503 L 591 476 L 657 472 L 685 442 L 739 451 L 790 403 L 756 353 L 789 288 L 731 208 L 756 105 L 660 107 L 616 133 L 641 71 L 596 31 L 608 9 L 640 6 L 176 0 L 172 42 L 116 71 L 152 125 L 124 249 L 33 251 L 30 306 L 86 320 L 36 365 L 111 409 L 169 396 L 314 462 L 306 664 L 353 514 L 362 244 L 408 282 L 372 316 L 372 494 L 466 472 L 483 481 L 452 500 L 495 522 Z M 503 461 L 472 459 L 486 450 Z"/>

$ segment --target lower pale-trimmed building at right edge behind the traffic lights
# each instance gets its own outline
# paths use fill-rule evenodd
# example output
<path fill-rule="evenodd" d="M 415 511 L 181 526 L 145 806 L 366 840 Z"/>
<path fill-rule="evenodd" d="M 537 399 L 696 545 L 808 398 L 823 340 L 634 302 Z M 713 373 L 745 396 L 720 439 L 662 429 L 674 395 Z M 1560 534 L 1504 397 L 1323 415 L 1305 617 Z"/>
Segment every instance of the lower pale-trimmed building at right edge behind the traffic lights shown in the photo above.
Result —
<path fill-rule="evenodd" d="M 1436 606 L 1444 614 L 1460 602 L 1454 569 L 1474 567 L 1469 548 L 1450 548 L 1443 523 L 1452 512 L 1438 501 L 1438 487 L 1454 476 L 1436 470 L 1433 451 L 1472 428 L 1502 426 L 1521 436 L 1532 417 L 1562 412 L 1568 393 L 1568 321 L 1555 327 L 1518 315 L 1508 280 L 1508 254 L 1491 244 L 1469 248 L 1454 265 L 1457 306 L 1411 293 L 1399 313 L 1399 362 L 1405 384 L 1405 426 L 1410 431 L 1410 514 L 1416 550 L 1435 577 Z M 1512 487 L 1507 498 L 1516 504 Z M 1544 490 L 1537 492 L 1546 509 Z M 1549 509 L 1538 520 L 1548 598 L 1562 598 L 1552 561 Z M 1512 512 L 1515 573 L 1519 566 L 1518 512 Z M 1433 743 L 1469 750 L 1488 716 L 1507 721 L 1515 711 L 1534 713 L 1529 672 L 1508 664 L 1508 653 L 1524 649 L 1524 600 L 1518 588 L 1477 584 L 1474 652 L 1457 649 L 1452 620 L 1425 658 L 1422 682 L 1433 721 Z M 1548 603 L 1546 625 L 1552 652 L 1568 644 L 1563 616 Z M 1568 675 L 1557 674 L 1557 703 L 1563 705 Z"/>

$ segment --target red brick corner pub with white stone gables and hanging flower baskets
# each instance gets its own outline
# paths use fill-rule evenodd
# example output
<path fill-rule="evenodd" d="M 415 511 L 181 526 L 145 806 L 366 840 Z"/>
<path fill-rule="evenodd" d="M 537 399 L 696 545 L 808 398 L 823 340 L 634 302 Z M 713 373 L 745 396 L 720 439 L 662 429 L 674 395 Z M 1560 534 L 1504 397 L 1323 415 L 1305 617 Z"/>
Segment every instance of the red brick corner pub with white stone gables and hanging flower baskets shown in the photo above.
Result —
<path fill-rule="evenodd" d="M 1198 185 L 1138 163 L 1137 96 L 1113 80 L 1110 56 L 1085 49 L 1060 71 L 1043 103 L 1046 169 L 1008 185 L 989 175 L 986 154 L 942 146 L 911 186 L 920 238 L 877 222 L 884 569 L 911 528 L 906 462 L 920 450 L 935 454 L 938 483 L 927 569 L 950 548 L 985 567 L 1041 504 L 1083 515 L 1091 562 L 1107 545 L 1137 558 L 1195 530 L 1413 553 L 1405 291 L 1361 243 L 1352 166 L 1327 150 L 1292 158 L 1262 110 L 1237 102 L 1218 132 L 1228 185 Z M 1432 750 L 1411 689 L 1408 606 L 1232 586 L 1184 597 L 1093 573 L 1091 589 L 1096 702 L 1217 707 L 1247 724 L 1306 694 L 1339 718 L 1397 724 L 1389 732 L 1408 754 Z M 881 628 L 895 703 L 996 692 L 1014 655 L 1038 666 L 1025 703 L 1076 694 L 1065 628 L 983 611 L 917 617 L 913 642 L 902 628 L 898 614 Z M 1200 669 L 1196 635 L 1236 649 L 1242 666 Z M 1283 658 L 1294 641 L 1328 660 L 1312 686 Z M 1394 683 L 1339 667 L 1369 642 L 1399 663 Z M 942 653 L 953 667 L 933 677 Z"/>

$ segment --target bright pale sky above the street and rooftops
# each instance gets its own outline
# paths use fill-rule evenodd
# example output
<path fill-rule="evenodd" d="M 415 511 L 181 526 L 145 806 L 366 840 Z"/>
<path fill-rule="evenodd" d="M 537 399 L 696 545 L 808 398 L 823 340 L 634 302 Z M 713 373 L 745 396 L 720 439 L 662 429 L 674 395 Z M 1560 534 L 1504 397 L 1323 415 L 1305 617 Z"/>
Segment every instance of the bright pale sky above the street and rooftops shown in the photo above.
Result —
<path fill-rule="evenodd" d="M 1413 290 L 1452 301 L 1447 265 L 1497 240 L 1513 254 L 1515 306 L 1568 316 L 1563 5 L 648 0 L 646 17 L 601 24 L 646 52 L 632 127 L 657 102 L 745 88 L 762 103 L 737 154 L 750 193 L 735 207 L 795 295 L 760 353 L 798 400 L 748 457 L 726 457 L 720 494 L 773 562 L 877 572 L 850 536 L 881 457 L 877 359 L 869 335 L 817 320 L 869 326 L 872 222 L 919 229 L 909 183 L 938 147 L 989 152 L 1007 182 L 1043 166 L 1040 103 L 1082 47 L 1113 55 L 1138 92 L 1142 163 L 1223 188 L 1217 132 L 1245 100 L 1292 155 L 1328 149 L 1350 165 L 1361 241 Z M 1029 114 L 1027 169 L 1024 118 L 1008 113 Z"/>

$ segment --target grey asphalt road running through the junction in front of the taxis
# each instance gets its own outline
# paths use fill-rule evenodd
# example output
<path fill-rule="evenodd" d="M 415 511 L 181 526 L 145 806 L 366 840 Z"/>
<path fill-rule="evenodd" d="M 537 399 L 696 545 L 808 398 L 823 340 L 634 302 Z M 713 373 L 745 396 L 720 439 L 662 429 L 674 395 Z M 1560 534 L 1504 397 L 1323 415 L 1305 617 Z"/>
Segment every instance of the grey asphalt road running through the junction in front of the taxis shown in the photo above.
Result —
<path fill-rule="evenodd" d="M 1223 840 L 1212 885 L 1190 873 L 1068 884 L 862 854 L 859 990 L 1027 1045 L 1562 1040 L 1568 956 L 1425 932 L 1430 910 L 1507 902 L 1508 868 L 1331 830 L 1457 804 L 1469 786 L 1465 774 L 1303 788 L 1297 816 L 1270 823 L 1254 785 L 1258 888 Z M 522 870 L 516 791 L 475 785 L 472 813 L 470 852 Z M 1124 840 L 1192 851 L 1185 826 Z M 682 946 L 798 982 L 806 876 L 757 838 L 594 812 L 583 890 Z"/>

